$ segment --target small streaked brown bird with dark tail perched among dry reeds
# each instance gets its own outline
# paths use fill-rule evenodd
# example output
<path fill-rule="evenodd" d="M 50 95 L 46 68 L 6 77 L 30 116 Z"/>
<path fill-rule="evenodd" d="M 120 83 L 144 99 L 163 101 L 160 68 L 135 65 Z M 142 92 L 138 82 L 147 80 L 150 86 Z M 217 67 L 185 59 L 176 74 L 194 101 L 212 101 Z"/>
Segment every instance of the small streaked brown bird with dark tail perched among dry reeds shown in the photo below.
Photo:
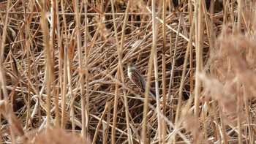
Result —
<path fill-rule="evenodd" d="M 143 75 L 140 74 L 138 69 L 136 69 L 132 62 L 128 64 L 128 76 L 129 79 L 132 80 L 132 83 L 145 91 L 146 80 Z M 152 99 L 156 100 L 156 92 L 152 88 L 149 88 L 149 94 L 152 96 Z"/>

